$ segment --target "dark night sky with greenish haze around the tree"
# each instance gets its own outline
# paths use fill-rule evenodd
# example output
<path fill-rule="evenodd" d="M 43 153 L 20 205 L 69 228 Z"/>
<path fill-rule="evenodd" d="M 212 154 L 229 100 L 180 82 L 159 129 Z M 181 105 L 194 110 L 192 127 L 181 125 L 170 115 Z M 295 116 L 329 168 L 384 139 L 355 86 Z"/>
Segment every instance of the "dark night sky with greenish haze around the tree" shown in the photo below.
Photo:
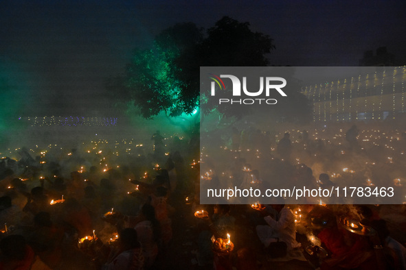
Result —
<path fill-rule="evenodd" d="M 175 23 L 230 16 L 273 38 L 271 64 L 357 66 L 381 46 L 406 64 L 405 14 L 404 0 L 0 1 L 0 77 L 28 114 L 87 116 L 109 102 L 104 79 Z"/>

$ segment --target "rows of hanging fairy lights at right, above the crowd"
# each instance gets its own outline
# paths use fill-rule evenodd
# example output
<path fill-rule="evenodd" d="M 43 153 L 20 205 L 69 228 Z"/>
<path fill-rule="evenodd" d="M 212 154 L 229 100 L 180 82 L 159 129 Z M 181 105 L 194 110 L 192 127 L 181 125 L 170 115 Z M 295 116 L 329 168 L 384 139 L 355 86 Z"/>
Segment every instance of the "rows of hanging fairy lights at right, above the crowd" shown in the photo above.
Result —
<path fill-rule="evenodd" d="M 405 112 L 406 66 L 357 77 L 302 88 L 313 101 L 314 122 L 395 119 Z"/>

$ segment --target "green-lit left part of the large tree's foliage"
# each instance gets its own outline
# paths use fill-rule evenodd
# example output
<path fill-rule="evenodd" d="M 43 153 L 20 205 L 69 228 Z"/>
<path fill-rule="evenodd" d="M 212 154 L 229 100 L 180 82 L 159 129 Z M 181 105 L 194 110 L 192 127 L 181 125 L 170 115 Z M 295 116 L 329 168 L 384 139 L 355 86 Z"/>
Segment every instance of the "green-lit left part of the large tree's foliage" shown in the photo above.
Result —
<path fill-rule="evenodd" d="M 199 88 L 190 90 L 178 77 L 177 59 L 201 42 L 202 30 L 193 23 L 179 23 L 163 30 L 149 49 L 137 49 L 126 73 L 110 78 L 107 89 L 121 101 L 131 101 L 146 119 L 159 112 L 168 116 L 191 114 L 199 106 Z"/>

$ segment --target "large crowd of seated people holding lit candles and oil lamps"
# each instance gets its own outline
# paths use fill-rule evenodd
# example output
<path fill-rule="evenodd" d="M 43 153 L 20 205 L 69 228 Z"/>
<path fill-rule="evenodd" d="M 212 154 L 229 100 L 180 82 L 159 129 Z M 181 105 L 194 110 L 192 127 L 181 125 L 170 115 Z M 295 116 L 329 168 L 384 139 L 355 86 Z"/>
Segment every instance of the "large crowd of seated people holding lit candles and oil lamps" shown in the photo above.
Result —
<path fill-rule="evenodd" d="M 20 159 L 0 160 L 0 269 L 272 269 L 280 257 L 296 260 L 297 269 L 406 269 L 403 206 L 311 200 L 287 205 L 275 199 L 253 207 L 199 201 L 202 182 L 266 187 L 278 175 L 308 186 L 331 186 L 341 178 L 334 178 L 333 167 L 317 155 L 335 164 L 331 155 L 325 158 L 332 150 L 359 156 L 363 146 L 359 130 L 344 132 L 341 145 L 307 130 L 271 134 L 234 127 L 220 145 L 204 150 L 208 158 L 196 156 L 194 147 L 178 137 L 168 142 L 160 132 L 151 138 L 151 151 L 126 156 L 93 141 L 91 147 L 46 154 L 19 149 Z M 308 166 L 303 155 L 295 158 L 302 151 Z M 225 157 L 224 163 L 210 158 L 216 154 Z M 198 160 L 211 168 L 210 180 L 202 180 Z M 200 210 L 207 215 L 196 217 Z M 396 222 L 391 214 L 398 214 Z M 338 217 L 362 221 L 376 234 L 354 234 Z M 214 240 L 229 235 L 234 251 L 214 252 Z M 320 249 L 311 255 L 308 246 Z"/>

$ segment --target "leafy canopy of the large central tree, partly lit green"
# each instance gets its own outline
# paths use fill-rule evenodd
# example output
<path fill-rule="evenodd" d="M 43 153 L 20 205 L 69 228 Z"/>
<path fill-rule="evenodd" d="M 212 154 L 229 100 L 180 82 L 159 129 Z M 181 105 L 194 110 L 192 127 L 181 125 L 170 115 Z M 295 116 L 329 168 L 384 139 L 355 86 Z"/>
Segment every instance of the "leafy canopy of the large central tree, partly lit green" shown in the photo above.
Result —
<path fill-rule="evenodd" d="M 131 101 L 146 119 L 160 112 L 192 114 L 199 108 L 200 66 L 267 66 L 273 49 L 267 34 L 227 16 L 206 32 L 194 23 L 179 23 L 157 35 L 150 48 L 137 49 L 126 73 L 109 79 L 107 89 L 115 98 Z M 200 108 L 203 114 L 217 109 L 231 116 L 227 106 L 203 102 Z M 247 110 L 251 108 L 234 116 Z"/>

